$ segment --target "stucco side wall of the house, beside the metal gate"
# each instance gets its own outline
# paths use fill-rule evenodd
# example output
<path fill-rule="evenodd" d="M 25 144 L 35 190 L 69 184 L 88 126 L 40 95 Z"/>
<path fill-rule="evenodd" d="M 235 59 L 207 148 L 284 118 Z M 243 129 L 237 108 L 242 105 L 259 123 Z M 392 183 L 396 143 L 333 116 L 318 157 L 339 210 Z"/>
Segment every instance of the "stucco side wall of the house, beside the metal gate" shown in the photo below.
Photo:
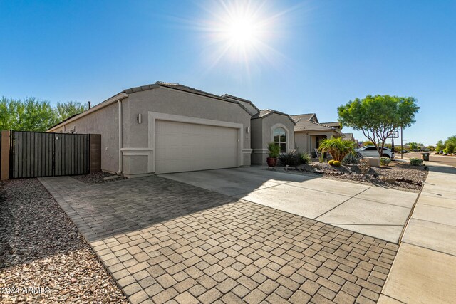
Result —
<path fill-rule="evenodd" d="M 113 103 L 78 120 L 69 122 L 53 132 L 68 133 L 75 127 L 75 132 L 79 134 L 101 134 L 101 169 L 116 172 L 119 165 L 118 117 L 118 104 Z"/>

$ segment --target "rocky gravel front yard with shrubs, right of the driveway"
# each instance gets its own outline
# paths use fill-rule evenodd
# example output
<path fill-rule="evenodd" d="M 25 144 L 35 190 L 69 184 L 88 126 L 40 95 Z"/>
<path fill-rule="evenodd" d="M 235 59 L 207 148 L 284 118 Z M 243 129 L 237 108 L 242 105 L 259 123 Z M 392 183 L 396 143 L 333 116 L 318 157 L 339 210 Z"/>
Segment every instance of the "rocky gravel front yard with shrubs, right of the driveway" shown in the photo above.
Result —
<path fill-rule="evenodd" d="M 343 164 L 341 167 L 333 167 L 326 162 L 311 162 L 289 170 L 323 174 L 323 177 L 328 179 L 348 179 L 353 182 L 409 191 L 420 191 L 427 177 L 424 167 L 415 167 L 408 162 L 400 161 L 393 161 L 388 167 L 371 167 L 367 174 L 361 174 L 358 165 Z"/>

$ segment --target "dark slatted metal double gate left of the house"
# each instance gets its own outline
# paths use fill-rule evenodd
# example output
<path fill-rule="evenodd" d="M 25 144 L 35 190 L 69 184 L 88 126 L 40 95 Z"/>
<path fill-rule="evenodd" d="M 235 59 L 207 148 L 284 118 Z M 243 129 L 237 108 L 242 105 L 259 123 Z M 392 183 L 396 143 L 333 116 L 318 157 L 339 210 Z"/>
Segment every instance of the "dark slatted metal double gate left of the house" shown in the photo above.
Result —
<path fill-rule="evenodd" d="M 88 174 L 89 135 L 11 131 L 11 179 Z"/>

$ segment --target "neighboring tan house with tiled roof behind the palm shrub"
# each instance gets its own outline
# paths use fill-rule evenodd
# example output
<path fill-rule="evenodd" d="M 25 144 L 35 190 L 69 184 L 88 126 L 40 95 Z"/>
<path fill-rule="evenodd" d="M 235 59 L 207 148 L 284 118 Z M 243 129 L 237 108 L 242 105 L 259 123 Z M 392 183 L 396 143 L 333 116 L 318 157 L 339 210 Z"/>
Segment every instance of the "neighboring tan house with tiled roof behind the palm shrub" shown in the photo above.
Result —
<path fill-rule="evenodd" d="M 320 147 L 321 140 L 341 136 L 339 122 L 318 122 L 315 113 L 291 115 L 296 122 L 294 126 L 294 142 L 299 152 L 311 153 Z"/>

